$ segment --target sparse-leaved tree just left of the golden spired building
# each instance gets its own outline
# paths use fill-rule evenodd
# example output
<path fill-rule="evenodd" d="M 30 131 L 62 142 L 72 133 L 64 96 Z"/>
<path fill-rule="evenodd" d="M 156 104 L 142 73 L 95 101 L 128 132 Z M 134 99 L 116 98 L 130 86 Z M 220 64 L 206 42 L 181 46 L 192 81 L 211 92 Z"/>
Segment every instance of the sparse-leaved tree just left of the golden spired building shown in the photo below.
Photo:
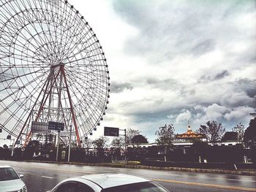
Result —
<path fill-rule="evenodd" d="M 157 145 L 171 147 L 175 137 L 174 131 L 175 128 L 173 124 L 165 124 L 165 126 L 159 127 L 159 130 L 155 133 L 158 137 L 156 139 Z"/>

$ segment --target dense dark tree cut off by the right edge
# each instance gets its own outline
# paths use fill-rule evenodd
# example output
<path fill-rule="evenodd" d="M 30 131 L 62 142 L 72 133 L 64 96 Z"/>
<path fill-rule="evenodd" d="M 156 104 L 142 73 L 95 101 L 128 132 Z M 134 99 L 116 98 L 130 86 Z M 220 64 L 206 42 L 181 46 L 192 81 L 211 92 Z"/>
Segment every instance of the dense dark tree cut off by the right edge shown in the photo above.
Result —
<path fill-rule="evenodd" d="M 256 118 L 251 119 L 249 127 L 246 128 L 244 133 L 244 141 L 248 147 L 256 147 Z"/>

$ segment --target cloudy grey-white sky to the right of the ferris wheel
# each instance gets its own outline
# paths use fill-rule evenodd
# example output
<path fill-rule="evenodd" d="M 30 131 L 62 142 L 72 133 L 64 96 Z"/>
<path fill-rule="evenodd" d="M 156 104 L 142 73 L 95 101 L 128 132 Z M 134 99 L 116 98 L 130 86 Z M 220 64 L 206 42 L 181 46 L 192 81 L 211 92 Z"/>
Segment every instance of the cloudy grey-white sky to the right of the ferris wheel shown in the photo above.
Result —
<path fill-rule="evenodd" d="M 247 127 L 256 107 L 255 1 L 78 1 L 110 69 L 103 126 L 176 132 L 208 120 Z"/>

